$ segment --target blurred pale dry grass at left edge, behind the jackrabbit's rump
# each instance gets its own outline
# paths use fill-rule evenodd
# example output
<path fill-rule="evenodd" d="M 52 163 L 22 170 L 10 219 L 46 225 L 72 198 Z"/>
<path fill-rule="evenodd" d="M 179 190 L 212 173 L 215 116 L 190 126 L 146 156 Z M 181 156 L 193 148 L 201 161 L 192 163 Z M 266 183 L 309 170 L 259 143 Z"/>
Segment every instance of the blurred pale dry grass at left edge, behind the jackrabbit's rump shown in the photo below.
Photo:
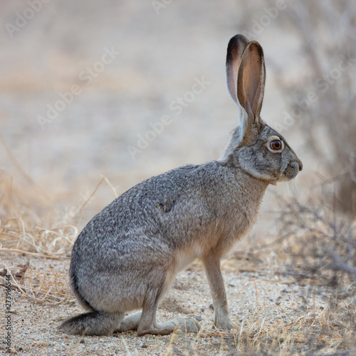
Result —
<path fill-rule="evenodd" d="M 63 224 L 40 188 L 5 175 L 0 176 L 0 188 L 0 251 L 52 259 L 70 255 L 78 229 Z"/>

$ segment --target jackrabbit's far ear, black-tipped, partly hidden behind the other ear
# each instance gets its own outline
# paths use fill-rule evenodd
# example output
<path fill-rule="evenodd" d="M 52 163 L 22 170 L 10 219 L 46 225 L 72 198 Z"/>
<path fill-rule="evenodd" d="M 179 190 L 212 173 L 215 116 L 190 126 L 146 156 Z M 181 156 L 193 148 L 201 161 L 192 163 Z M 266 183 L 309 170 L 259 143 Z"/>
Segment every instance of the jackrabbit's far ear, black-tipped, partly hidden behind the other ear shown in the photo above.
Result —
<path fill-rule="evenodd" d="M 248 39 L 243 35 L 232 37 L 227 46 L 226 54 L 226 83 L 231 98 L 239 105 L 237 99 L 237 73 L 244 49 L 248 45 Z"/>

